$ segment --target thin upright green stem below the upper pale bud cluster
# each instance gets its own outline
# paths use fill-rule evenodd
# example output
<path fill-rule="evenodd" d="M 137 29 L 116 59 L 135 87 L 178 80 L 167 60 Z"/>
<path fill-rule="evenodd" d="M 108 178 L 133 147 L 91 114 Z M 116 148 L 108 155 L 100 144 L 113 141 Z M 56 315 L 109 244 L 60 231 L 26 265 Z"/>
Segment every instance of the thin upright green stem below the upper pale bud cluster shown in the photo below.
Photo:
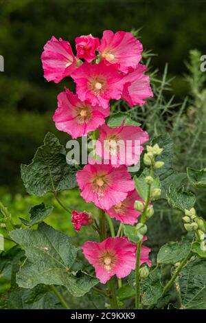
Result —
<path fill-rule="evenodd" d="M 154 166 L 153 165 L 150 168 L 150 176 L 151 177 L 154 176 Z M 146 212 L 148 209 L 148 205 L 150 203 L 150 194 L 151 194 L 151 184 L 148 184 L 148 193 L 147 193 L 146 202 L 144 205 L 144 210 L 141 213 L 140 223 L 146 222 Z M 135 268 L 135 280 L 136 280 L 135 309 L 139 309 L 139 307 L 140 307 L 139 267 L 140 267 L 141 243 L 142 243 L 142 241 L 139 241 L 137 243 L 136 268 Z"/>

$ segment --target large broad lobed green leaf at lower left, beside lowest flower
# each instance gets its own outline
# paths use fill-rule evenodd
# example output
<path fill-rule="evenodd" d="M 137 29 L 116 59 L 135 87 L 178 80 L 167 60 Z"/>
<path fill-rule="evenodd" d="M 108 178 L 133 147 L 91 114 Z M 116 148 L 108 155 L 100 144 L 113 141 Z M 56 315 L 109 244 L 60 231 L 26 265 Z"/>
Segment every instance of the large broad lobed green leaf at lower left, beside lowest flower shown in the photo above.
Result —
<path fill-rule="evenodd" d="M 38 230 L 14 230 L 10 236 L 25 249 L 27 260 L 16 274 L 19 287 L 33 288 L 38 284 L 62 285 L 76 297 L 83 296 L 98 279 L 71 271 L 78 248 L 69 236 L 41 223 Z"/>

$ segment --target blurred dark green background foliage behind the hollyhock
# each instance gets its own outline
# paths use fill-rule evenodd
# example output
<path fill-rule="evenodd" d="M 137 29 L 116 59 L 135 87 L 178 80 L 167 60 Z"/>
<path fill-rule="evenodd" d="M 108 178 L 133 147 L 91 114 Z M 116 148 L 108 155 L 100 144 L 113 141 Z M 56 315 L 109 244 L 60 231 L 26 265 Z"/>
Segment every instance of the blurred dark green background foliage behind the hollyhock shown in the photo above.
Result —
<path fill-rule="evenodd" d="M 69 78 L 58 85 L 43 78 L 41 52 L 52 35 L 69 40 L 74 49 L 75 37 L 82 34 L 101 37 L 106 29 L 139 30 L 155 97 L 134 109 L 133 118 L 150 137 L 164 131 L 172 135 L 176 169 L 205 166 L 206 73 L 200 71 L 205 13 L 206 1 L 198 0 L 0 0 L 0 55 L 5 60 L 5 71 L 0 72 L 0 199 L 16 219 L 26 217 L 30 207 L 41 201 L 53 203 L 49 223 L 77 237 L 68 214 L 49 196 L 27 196 L 20 177 L 20 164 L 30 163 L 47 131 L 56 133 L 62 144 L 69 138 L 56 131 L 52 115 L 58 93 L 65 85 L 74 89 L 73 84 Z M 88 209 L 78 190 L 62 193 L 62 199 L 70 208 Z M 198 192 L 202 216 L 204 205 L 205 193 Z M 155 215 L 148 239 L 151 246 L 158 248 L 181 236 L 177 212 L 162 203 Z"/>

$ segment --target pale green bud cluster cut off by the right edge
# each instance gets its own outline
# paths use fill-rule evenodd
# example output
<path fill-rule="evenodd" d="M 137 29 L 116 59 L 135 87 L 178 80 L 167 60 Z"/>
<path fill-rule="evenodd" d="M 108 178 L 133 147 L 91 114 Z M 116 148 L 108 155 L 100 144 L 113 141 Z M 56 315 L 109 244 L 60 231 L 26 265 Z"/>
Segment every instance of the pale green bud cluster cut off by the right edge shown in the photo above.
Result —
<path fill-rule="evenodd" d="M 196 238 L 201 243 L 201 249 L 206 251 L 205 244 L 205 232 L 206 225 L 205 221 L 196 215 L 196 211 L 194 208 L 190 210 L 185 210 L 185 216 L 183 216 L 183 221 L 185 222 L 184 227 L 187 231 L 194 231 L 196 234 Z"/>

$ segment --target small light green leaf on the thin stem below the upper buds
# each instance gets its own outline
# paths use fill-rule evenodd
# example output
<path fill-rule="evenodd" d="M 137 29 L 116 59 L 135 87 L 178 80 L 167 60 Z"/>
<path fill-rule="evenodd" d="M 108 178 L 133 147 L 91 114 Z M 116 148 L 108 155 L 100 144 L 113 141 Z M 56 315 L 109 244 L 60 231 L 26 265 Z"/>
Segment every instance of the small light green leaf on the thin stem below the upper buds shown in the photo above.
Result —
<path fill-rule="evenodd" d="M 146 201 L 146 197 L 148 194 L 148 184 L 146 183 L 146 176 L 148 176 L 149 173 L 150 173 L 150 170 L 148 168 L 144 168 L 144 171 L 141 173 L 141 175 L 138 178 L 136 175 L 133 177 L 135 181 L 135 188 L 139 196 L 142 199 L 144 199 L 144 201 Z M 153 190 L 154 188 L 160 188 L 160 187 L 161 187 L 161 183 L 159 181 L 159 177 L 155 177 L 151 186 L 151 190 Z"/>

